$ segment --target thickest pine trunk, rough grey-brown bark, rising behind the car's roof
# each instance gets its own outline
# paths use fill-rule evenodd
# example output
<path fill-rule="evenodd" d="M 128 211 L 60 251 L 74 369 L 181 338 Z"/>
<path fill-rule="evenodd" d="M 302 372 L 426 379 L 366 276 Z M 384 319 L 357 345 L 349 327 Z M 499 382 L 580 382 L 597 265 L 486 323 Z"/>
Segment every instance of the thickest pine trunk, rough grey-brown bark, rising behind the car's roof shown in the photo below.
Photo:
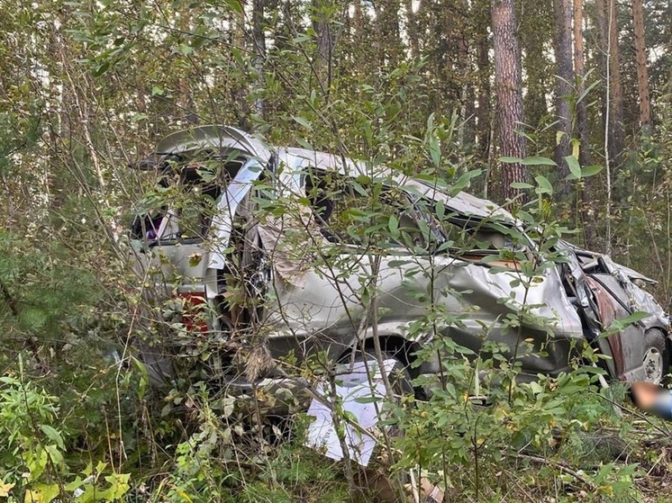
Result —
<path fill-rule="evenodd" d="M 497 93 L 497 122 L 502 156 L 525 157 L 525 139 L 516 132 L 523 121 L 521 51 L 516 35 L 513 0 L 491 0 L 493 43 L 495 47 L 495 90 Z M 504 163 L 502 184 L 504 197 L 519 197 L 513 182 L 527 180 L 525 166 Z"/>

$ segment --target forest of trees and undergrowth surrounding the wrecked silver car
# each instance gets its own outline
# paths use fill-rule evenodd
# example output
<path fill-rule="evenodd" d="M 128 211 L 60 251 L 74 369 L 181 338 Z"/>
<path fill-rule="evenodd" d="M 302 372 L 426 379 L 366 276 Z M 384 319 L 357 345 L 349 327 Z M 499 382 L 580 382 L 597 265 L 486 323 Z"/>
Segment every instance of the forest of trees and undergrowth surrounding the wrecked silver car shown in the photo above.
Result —
<path fill-rule="evenodd" d="M 436 161 L 500 203 L 541 176 L 570 240 L 672 302 L 669 1 L 0 0 L 0 13 L 0 500 L 350 494 L 341 468 L 300 445 L 233 448 L 237 430 L 198 392 L 150 394 L 120 343 L 141 303 L 120 243 L 146 186 L 126 166 L 189 125 Z M 603 419 L 589 422 L 607 444 L 631 436 L 587 464 L 492 454 L 473 472 L 480 444 L 464 440 L 456 500 L 649 498 L 650 477 L 667 480 L 667 430 Z"/>

